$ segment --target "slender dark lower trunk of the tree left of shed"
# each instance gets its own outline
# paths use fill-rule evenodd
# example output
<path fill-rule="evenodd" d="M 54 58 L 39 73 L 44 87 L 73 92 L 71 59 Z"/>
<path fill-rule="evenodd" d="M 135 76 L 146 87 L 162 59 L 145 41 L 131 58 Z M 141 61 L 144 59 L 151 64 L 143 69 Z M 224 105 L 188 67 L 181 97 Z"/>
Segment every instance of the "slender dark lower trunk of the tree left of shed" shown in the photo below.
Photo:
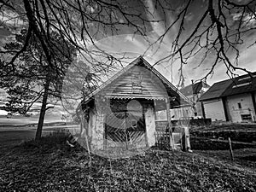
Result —
<path fill-rule="evenodd" d="M 44 125 L 44 115 L 46 112 L 48 94 L 49 94 L 49 79 L 46 80 L 46 84 L 44 85 L 44 95 L 43 95 L 42 107 L 40 110 L 40 116 L 38 120 L 38 129 L 37 129 L 36 138 L 35 138 L 36 141 L 40 140 L 42 136 L 43 125 Z"/>

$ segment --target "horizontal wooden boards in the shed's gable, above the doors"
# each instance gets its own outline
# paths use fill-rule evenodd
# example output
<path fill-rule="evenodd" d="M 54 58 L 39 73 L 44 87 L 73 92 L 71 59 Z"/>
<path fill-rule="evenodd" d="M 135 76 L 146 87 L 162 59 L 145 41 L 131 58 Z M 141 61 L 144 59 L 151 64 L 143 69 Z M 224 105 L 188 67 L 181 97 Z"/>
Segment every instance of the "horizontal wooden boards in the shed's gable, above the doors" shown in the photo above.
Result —
<path fill-rule="evenodd" d="M 134 66 L 102 90 L 104 96 L 166 97 L 160 79 L 145 67 Z"/>

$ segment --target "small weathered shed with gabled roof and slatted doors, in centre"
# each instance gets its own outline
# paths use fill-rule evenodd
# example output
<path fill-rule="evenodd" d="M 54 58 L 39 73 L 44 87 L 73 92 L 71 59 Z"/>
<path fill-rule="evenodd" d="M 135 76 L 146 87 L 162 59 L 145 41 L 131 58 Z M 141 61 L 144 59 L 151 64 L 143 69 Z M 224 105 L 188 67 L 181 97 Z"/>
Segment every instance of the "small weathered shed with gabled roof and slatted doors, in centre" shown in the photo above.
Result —
<path fill-rule="evenodd" d="M 87 143 L 92 151 L 153 146 L 160 126 L 156 112 L 166 110 L 166 125 L 170 127 L 170 108 L 191 104 L 139 56 L 81 102 Z M 168 131 L 172 136 L 172 129 Z M 173 137 L 170 143 L 173 146 Z"/>

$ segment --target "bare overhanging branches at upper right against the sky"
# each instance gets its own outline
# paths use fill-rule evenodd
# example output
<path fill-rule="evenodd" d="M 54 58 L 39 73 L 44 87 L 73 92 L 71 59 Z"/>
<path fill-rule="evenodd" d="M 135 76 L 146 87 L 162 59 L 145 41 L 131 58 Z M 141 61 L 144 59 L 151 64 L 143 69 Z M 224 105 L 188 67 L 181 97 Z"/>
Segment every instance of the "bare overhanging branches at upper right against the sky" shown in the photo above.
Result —
<path fill-rule="evenodd" d="M 195 3 L 198 6 L 202 4 L 202 10 L 193 17 L 194 21 L 191 25 L 192 21 L 187 20 L 187 17 L 193 12 Z M 161 9 L 162 12 L 166 12 L 166 1 L 157 1 L 154 6 Z M 183 66 L 189 65 L 189 61 L 195 56 L 198 66 L 209 62 L 207 59 L 211 57 L 212 67 L 205 74 L 204 79 L 214 72 L 218 63 L 226 67 L 226 73 L 230 77 L 236 75 L 236 70 L 250 73 L 247 68 L 239 67 L 238 58 L 241 49 L 253 46 L 256 42 L 255 38 L 253 42 L 251 39 L 250 42 L 247 42 L 247 37 L 255 34 L 255 6 L 256 2 L 253 0 L 188 0 L 171 6 L 172 9 L 169 10 L 173 13 L 174 19 L 153 44 L 163 43 L 173 27 L 177 27 L 178 30 L 172 38 L 170 54 L 161 58 L 155 65 L 163 61 L 179 60 L 181 65 L 179 85 L 183 84 Z M 195 15 L 195 12 L 193 14 Z M 202 56 L 200 57 L 200 55 Z"/>

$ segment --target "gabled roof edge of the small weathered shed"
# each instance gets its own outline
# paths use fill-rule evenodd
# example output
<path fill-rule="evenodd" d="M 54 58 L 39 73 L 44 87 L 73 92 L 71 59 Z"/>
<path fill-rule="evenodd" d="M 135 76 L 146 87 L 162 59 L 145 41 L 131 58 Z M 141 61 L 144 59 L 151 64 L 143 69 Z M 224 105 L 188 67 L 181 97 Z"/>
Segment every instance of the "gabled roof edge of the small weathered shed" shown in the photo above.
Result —
<path fill-rule="evenodd" d="M 143 58 L 143 56 L 137 57 L 136 60 L 132 61 L 129 65 L 127 65 L 122 70 L 120 70 L 119 73 L 116 73 L 115 75 L 113 75 L 113 77 L 111 79 L 108 79 L 108 81 L 106 81 L 104 84 L 99 86 L 96 90 L 94 90 L 92 93 L 90 93 L 90 95 L 86 96 L 84 98 L 84 103 L 90 102 L 93 99 L 93 96 L 96 96 L 96 94 L 100 93 L 105 88 L 108 88 L 109 84 L 112 84 L 114 80 L 118 79 L 122 74 L 126 73 L 129 69 L 131 69 L 131 67 L 134 67 L 134 66 L 148 68 L 151 72 L 154 73 L 154 75 L 156 75 L 160 79 L 162 84 L 164 84 L 169 96 L 170 95 L 171 96 L 179 96 L 180 99 L 182 99 L 184 103 L 192 106 L 192 103 L 189 101 L 189 99 L 186 96 L 184 96 L 179 90 L 177 90 L 177 88 L 171 82 L 169 82 L 162 74 L 160 74 L 154 67 L 152 67 L 148 63 L 148 61 L 146 61 Z"/>

